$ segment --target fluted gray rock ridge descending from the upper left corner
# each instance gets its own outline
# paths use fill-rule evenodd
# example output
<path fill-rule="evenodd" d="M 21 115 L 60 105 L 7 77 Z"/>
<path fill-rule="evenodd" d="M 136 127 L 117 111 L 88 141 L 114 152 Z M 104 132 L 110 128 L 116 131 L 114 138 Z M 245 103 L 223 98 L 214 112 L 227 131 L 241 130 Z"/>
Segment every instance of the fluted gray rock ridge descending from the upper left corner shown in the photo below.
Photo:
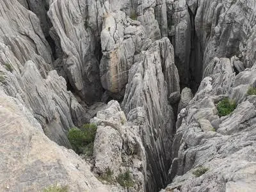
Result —
<path fill-rule="evenodd" d="M 0 24 L 1 87 L 31 110 L 49 138 L 68 147 L 67 131 L 85 122 L 85 111 L 47 64 L 51 49 L 37 17 L 17 1 L 0 3 L 6 13 Z"/>

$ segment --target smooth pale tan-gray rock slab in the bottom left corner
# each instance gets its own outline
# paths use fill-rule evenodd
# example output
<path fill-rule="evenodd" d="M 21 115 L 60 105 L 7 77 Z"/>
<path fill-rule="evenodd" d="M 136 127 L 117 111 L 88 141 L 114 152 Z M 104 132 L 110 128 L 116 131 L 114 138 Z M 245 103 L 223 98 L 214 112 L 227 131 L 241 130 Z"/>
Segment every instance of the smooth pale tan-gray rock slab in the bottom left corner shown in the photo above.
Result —
<path fill-rule="evenodd" d="M 112 191 L 72 150 L 45 136 L 29 109 L 0 90 L 0 191 L 42 191 L 52 184 L 70 191 Z"/>

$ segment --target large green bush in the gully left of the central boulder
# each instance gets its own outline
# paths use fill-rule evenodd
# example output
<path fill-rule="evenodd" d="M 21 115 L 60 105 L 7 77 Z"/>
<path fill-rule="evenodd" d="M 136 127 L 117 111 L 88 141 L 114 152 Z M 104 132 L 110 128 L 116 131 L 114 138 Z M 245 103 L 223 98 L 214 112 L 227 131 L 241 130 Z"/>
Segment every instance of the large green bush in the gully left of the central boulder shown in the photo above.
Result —
<path fill-rule="evenodd" d="M 85 152 L 92 155 L 93 141 L 97 132 L 97 125 L 85 124 L 81 129 L 74 127 L 68 131 L 68 141 L 77 154 Z"/>

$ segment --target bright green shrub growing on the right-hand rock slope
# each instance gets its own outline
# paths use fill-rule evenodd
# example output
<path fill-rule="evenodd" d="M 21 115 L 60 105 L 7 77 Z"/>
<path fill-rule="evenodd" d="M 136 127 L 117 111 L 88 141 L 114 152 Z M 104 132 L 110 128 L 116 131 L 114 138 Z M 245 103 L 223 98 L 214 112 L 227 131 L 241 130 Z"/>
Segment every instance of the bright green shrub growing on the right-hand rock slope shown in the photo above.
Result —
<path fill-rule="evenodd" d="M 236 109 L 236 102 L 225 98 L 218 103 L 217 109 L 219 116 L 226 116 Z"/>

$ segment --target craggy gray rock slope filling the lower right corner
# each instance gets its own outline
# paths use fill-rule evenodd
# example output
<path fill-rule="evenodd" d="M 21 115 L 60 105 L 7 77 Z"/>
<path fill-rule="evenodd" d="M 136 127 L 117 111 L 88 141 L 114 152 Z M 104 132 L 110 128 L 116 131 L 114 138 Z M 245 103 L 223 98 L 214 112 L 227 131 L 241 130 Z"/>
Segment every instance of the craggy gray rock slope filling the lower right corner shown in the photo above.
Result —
<path fill-rule="evenodd" d="M 212 90 L 211 77 L 205 77 L 182 117 L 172 149 L 176 151 L 173 156 L 177 157 L 173 163 L 178 163 L 170 170 L 170 175 L 182 176 L 175 177 L 165 191 L 255 190 L 255 175 L 251 174 L 255 170 L 256 155 L 252 140 L 255 136 L 255 97 L 247 97 L 233 113 L 220 118 L 214 106 L 219 99 L 213 96 Z M 212 129 L 217 120 L 218 125 Z M 196 178 L 194 172 L 202 167 L 208 171 Z"/>

